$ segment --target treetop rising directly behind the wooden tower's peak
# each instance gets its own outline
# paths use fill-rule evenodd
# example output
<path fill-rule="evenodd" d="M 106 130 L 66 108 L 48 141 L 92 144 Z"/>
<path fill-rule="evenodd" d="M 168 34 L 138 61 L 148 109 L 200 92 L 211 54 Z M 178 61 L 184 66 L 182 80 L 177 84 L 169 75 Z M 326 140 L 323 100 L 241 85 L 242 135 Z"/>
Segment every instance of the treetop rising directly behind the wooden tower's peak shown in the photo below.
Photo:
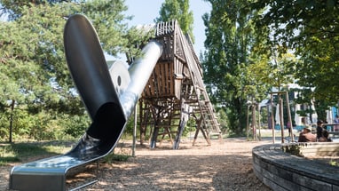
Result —
<path fill-rule="evenodd" d="M 155 22 L 177 20 L 185 35 L 193 36 L 193 12 L 189 11 L 189 0 L 165 0 L 160 9 L 160 17 Z"/>

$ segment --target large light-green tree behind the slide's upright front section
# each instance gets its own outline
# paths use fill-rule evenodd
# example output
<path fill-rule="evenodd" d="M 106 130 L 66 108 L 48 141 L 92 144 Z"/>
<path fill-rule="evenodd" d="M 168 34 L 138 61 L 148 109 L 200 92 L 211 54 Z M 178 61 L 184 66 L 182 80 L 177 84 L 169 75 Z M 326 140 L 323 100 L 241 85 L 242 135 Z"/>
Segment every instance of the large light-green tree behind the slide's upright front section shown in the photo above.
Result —
<path fill-rule="evenodd" d="M 55 125 L 58 120 L 79 126 L 79 120 L 70 119 L 72 116 L 89 123 L 65 60 L 62 35 L 69 15 L 87 15 L 106 52 L 115 55 L 129 49 L 124 22 L 129 17 L 122 14 L 127 9 L 123 0 L 50 2 L 0 1 L 10 19 L 0 25 L 0 109 L 5 111 L 0 118 L 9 118 L 9 100 L 15 100 L 14 122 L 19 127 L 16 133 L 34 138 L 40 136 L 37 132 L 53 133 L 52 127 L 59 128 Z M 0 133 L 7 133 L 3 127 L 8 125 L 3 122 Z M 29 134 L 34 132 L 35 135 Z M 39 139 L 51 138 L 40 134 L 44 137 Z"/>

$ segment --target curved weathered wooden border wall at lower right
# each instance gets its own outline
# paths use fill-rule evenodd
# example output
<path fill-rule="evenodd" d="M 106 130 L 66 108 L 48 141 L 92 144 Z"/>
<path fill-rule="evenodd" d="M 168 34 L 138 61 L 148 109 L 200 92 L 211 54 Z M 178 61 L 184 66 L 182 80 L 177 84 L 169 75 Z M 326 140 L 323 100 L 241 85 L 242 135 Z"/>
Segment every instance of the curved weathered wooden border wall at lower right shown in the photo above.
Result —
<path fill-rule="evenodd" d="M 301 157 L 339 155 L 339 143 L 269 144 L 252 155 L 256 177 L 273 190 L 339 190 L 339 167 Z"/>

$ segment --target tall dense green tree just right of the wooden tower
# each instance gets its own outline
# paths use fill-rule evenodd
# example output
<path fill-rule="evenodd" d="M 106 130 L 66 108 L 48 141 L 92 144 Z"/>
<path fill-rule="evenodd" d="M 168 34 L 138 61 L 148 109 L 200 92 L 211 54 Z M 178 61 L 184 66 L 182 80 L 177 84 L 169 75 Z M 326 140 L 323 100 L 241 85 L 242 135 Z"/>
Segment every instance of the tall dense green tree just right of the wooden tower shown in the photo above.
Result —
<path fill-rule="evenodd" d="M 260 100 L 264 84 L 256 84 L 247 68 L 260 57 L 252 52 L 264 45 L 253 26 L 256 12 L 248 1 L 209 0 L 212 12 L 203 16 L 207 27 L 202 61 L 207 89 L 212 100 L 226 111 L 229 129 L 239 134 L 245 130 L 248 99 Z"/>

